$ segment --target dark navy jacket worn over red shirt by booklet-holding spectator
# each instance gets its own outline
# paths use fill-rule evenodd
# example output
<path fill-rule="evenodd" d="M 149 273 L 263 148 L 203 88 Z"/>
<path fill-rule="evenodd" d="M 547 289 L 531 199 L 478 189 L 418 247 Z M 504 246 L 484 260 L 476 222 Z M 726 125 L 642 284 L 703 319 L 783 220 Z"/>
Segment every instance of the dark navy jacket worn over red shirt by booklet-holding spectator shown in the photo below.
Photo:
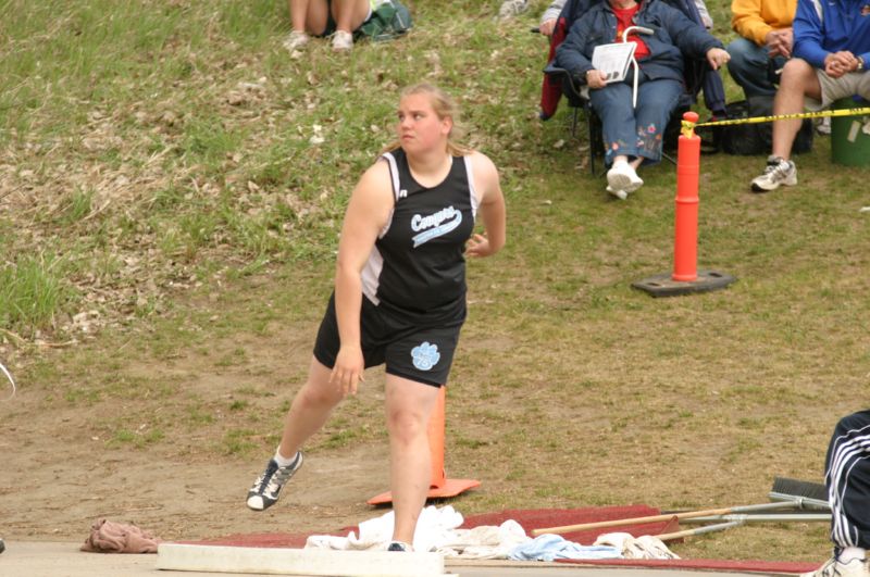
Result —
<path fill-rule="evenodd" d="M 637 61 L 645 77 L 651 80 L 670 78 L 683 81 L 683 55 L 706 58 L 711 48 L 722 48 L 703 25 L 661 0 L 645 0 L 634 15 L 634 24 L 651 28 L 655 34 L 641 39 L 649 55 Z M 571 26 L 568 37 L 556 50 L 556 65 L 567 70 L 580 83 L 586 83 L 586 72 L 593 70 L 592 53 L 598 45 L 609 45 L 617 38 L 617 16 L 610 2 L 593 5 Z"/>

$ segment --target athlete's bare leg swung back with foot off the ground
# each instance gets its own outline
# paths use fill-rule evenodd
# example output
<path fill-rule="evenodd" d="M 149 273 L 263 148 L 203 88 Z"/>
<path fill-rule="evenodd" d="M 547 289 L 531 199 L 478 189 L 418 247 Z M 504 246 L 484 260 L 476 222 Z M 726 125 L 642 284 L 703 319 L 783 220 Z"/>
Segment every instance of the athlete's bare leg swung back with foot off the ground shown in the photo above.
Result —
<path fill-rule="evenodd" d="M 308 381 L 299 389 L 284 421 L 278 452 L 285 459 L 293 459 L 302 443 L 323 427 L 335 405 L 341 399 L 341 391 L 330 382 L 331 369 L 316 359 L 311 359 Z"/>

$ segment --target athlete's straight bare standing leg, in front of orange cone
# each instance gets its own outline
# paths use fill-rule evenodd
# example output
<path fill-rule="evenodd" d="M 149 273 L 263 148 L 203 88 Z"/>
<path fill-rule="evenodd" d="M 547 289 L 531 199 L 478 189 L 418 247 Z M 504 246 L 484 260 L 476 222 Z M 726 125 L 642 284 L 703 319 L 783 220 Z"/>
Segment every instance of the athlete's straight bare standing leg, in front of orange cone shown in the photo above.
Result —
<path fill-rule="evenodd" d="M 389 430 L 389 486 L 395 526 L 393 539 L 412 543 L 417 519 L 432 479 L 428 419 L 438 389 L 387 375 L 386 412 Z"/>

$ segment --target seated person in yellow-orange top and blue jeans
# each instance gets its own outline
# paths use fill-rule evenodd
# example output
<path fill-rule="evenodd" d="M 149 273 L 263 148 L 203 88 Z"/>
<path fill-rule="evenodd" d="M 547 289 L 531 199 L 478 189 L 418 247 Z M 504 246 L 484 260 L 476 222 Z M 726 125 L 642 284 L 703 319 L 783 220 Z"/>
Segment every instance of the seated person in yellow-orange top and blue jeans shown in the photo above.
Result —
<path fill-rule="evenodd" d="M 728 45 L 728 72 L 747 100 L 776 93 L 778 71 L 792 58 L 792 20 L 797 0 L 734 0 L 731 27 L 739 37 Z"/>

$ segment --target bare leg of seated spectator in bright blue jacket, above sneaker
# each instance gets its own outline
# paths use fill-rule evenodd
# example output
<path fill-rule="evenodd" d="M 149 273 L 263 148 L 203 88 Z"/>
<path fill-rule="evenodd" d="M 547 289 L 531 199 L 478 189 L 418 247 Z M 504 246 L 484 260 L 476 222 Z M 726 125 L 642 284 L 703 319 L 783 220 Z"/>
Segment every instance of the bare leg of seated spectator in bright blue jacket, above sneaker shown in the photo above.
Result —
<path fill-rule="evenodd" d="M 804 97 L 822 100 L 822 90 L 819 78 L 807 61 L 799 58 L 790 60 L 782 71 L 780 89 L 773 99 L 773 114 L 797 114 L 804 111 Z M 797 131 L 800 129 L 799 118 L 775 121 L 773 123 L 773 155 L 788 160 L 792 155 L 792 145 Z"/>

